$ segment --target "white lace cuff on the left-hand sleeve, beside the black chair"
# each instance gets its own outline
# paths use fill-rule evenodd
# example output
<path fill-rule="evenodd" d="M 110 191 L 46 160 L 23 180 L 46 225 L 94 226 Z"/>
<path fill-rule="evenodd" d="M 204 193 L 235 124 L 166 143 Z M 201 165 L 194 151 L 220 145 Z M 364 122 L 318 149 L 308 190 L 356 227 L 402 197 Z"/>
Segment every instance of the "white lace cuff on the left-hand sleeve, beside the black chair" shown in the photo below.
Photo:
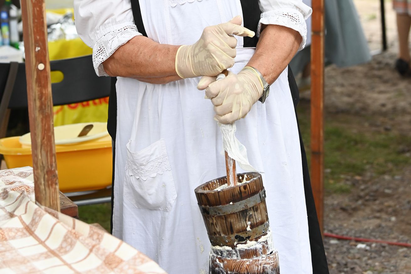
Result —
<path fill-rule="evenodd" d="M 120 46 L 137 35 L 141 35 L 141 33 L 138 32 L 136 25 L 130 23 L 118 30 L 106 33 L 97 40 L 93 47 L 93 65 L 97 76 L 109 76 L 104 71 L 102 63 Z"/>

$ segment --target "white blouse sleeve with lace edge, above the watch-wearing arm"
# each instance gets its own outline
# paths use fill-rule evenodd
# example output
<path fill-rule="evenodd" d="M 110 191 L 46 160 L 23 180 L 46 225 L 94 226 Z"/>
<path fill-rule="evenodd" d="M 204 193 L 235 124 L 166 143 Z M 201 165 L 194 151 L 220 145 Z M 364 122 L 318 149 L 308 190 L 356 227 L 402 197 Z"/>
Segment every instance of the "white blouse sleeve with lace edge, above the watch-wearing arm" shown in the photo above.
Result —
<path fill-rule="evenodd" d="M 260 35 L 261 24 L 292 28 L 302 37 L 299 50 L 304 49 L 307 39 L 305 20 L 311 15 L 312 9 L 302 0 L 259 0 L 259 4 L 262 13 L 257 35 Z"/>

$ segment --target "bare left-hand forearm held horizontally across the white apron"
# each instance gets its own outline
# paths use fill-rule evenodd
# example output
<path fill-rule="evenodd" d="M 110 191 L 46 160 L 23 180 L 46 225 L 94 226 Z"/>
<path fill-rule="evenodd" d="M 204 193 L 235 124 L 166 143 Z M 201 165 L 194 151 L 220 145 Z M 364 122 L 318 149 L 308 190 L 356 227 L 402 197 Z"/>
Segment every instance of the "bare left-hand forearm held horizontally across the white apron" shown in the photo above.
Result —
<path fill-rule="evenodd" d="M 129 77 L 141 81 L 147 78 L 153 84 L 168 83 L 181 79 L 175 72 L 178 47 L 159 44 L 139 35 L 120 46 L 103 62 L 103 67 L 112 77 Z"/>

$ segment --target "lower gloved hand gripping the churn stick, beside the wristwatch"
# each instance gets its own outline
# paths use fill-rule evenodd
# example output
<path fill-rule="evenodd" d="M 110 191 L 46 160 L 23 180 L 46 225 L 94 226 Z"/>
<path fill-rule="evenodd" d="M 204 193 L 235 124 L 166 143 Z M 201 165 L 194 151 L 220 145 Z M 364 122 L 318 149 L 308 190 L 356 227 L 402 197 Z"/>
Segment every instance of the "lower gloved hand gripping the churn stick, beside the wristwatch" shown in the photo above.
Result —
<path fill-rule="evenodd" d="M 205 89 L 205 96 L 214 104 L 214 118 L 222 124 L 244 118 L 263 95 L 263 83 L 251 67 L 243 68 L 238 74 L 228 72 L 227 77 L 219 81 L 205 76 L 197 88 Z"/>

